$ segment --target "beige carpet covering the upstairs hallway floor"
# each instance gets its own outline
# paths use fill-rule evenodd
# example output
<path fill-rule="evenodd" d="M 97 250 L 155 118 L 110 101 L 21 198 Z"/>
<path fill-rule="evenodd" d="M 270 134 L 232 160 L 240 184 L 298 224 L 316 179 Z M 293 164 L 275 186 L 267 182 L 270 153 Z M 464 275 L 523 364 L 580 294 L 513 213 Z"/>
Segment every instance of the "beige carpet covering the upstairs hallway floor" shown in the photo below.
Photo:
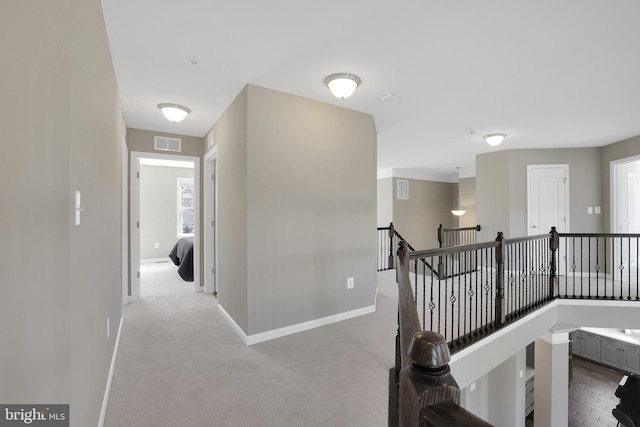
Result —
<path fill-rule="evenodd" d="M 145 265 L 105 426 L 386 426 L 393 279 L 381 276 L 375 313 L 247 347 L 213 296 Z"/>

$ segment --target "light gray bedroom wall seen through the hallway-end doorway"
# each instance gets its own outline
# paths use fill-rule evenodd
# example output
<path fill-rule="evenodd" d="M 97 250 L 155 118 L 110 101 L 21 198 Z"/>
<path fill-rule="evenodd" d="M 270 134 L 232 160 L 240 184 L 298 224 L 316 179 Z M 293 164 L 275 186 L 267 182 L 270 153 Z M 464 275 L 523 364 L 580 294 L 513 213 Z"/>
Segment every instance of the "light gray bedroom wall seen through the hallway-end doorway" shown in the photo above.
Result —
<path fill-rule="evenodd" d="M 178 178 L 193 178 L 193 169 L 140 166 L 140 259 L 166 258 L 179 239 Z"/>

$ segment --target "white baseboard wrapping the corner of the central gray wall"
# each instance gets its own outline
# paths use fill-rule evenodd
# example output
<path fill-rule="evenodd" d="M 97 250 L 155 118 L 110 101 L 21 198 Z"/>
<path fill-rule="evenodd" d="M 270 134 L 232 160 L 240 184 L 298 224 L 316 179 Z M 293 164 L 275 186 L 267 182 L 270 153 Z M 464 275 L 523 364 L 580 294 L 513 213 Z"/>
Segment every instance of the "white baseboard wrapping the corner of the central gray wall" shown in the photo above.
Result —
<path fill-rule="evenodd" d="M 376 293 L 377 296 L 377 293 Z M 320 326 L 329 325 L 331 323 L 341 322 L 343 320 L 352 319 L 354 317 L 362 316 L 365 314 L 373 313 L 376 311 L 376 306 L 370 305 L 368 307 L 359 308 L 357 310 L 351 310 L 344 313 L 334 314 L 332 316 L 322 317 L 320 319 L 310 320 L 308 322 L 297 323 L 291 326 L 285 326 L 284 328 L 273 329 L 271 331 L 260 332 L 259 334 L 247 335 L 240 326 L 233 320 L 231 316 L 218 304 L 218 310 L 222 316 L 229 322 L 233 330 L 240 336 L 242 341 L 246 345 L 258 344 L 265 341 L 270 341 L 276 338 L 281 338 L 287 335 L 296 334 L 298 332 L 308 331 L 309 329 L 319 328 Z"/>

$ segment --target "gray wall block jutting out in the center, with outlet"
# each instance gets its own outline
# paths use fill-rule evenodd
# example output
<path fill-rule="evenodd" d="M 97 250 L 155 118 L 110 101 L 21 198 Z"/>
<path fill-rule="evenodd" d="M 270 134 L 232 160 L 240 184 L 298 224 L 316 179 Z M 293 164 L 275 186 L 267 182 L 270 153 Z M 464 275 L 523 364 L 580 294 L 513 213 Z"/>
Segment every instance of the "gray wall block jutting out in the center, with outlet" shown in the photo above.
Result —
<path fill-rule="evenodd" d="M 214 141 L 220 304 L 238 325 L 252 335 L 373 305 L 373 117 L 249 85 Z"/>

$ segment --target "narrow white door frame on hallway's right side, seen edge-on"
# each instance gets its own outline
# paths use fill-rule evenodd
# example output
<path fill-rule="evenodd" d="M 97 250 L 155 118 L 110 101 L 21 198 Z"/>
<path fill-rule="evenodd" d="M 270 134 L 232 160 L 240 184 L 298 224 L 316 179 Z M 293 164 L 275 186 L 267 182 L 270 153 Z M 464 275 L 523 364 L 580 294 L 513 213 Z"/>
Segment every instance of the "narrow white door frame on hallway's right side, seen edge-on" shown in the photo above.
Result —
<path fill-rule="evenodd" d="M 204 155 L 204 293 L 217 294 L 218 279 L 218 146 Z M 215 177 L 214 177 L 215 174 Z M 209 179 L 211 178 L 211 179 Z M 213 194 L 213 197 L 212 197 Z M 215 224 L 215 225 L 214 225 Z M 213 254 L 213 256 L 211 256 Z M 213 274 L 209 274 L 212 271 Z"/>

